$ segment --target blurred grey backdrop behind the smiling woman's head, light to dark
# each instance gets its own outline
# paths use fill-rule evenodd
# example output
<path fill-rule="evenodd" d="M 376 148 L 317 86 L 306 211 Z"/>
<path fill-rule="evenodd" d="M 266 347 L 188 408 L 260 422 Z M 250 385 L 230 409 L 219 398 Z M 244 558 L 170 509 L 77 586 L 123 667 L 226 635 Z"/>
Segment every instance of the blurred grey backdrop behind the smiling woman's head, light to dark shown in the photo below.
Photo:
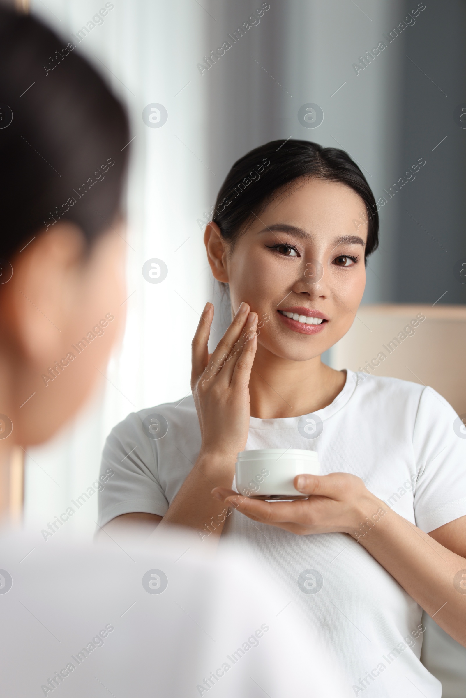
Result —
<path fill-rule="evenodd" d="M 205 53 L 260 6 L 259 0 L 204 3 L 212 15 L 206 14 Z M 466 285 L 453 278 L 455 262 L 462 255 L 466 261 L 466 129 L 453 120 L 456 105 L 466 106 L 465 3 L 452 0 L 446 8 L 427 0 L 415 24 L 388 43 L 383 35 L 416 7 L 403 0 L 270 0 L 260 24 L 203 75 L 210 94 L 209 167 L 217 175 L 210 178 L 212 203 L 233 161 L 275 138 L 343 147 L 376 199 L 425 158 L 416 179 L 381 208 L 381 246 L 368 264 L 363 302 L 432 304 L 446 290 L 442 303 L 466 300 Z M 386 49 L 356 74 L 353 64 L 382 40 Z M 321 106 L 319 128 L 298 122 L 304 103 Z"/>

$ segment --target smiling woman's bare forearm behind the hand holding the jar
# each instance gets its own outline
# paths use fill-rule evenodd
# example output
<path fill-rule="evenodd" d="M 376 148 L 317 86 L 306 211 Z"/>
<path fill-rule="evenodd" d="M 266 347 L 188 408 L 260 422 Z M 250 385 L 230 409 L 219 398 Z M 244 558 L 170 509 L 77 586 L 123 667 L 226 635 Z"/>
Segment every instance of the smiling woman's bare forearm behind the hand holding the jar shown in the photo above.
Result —
<path fill-rule="evenodd" d="M 466 595 L 453 579 L 466 570 L 465 558 L 433 540 L 393 510 L 387 510 L 367 533 L 358 537 L 402 588 L 451 637 L 466 646 Z"/>

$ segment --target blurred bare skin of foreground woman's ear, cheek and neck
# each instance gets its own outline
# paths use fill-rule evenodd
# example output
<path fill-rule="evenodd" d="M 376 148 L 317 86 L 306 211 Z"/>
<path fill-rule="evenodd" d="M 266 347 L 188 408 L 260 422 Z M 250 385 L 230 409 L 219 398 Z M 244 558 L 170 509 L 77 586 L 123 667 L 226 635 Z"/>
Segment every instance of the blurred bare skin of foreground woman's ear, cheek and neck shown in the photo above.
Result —
<path fill-rule="evenodd" d="M 85 254 L 79 229 L 57 223 L 13 259 L 15 273 L 0 287 L 10 442 L 47 440 L 103 380 L 126 309 L 124 224 L 114 226 L 118 234 L 103 232 Z"/>

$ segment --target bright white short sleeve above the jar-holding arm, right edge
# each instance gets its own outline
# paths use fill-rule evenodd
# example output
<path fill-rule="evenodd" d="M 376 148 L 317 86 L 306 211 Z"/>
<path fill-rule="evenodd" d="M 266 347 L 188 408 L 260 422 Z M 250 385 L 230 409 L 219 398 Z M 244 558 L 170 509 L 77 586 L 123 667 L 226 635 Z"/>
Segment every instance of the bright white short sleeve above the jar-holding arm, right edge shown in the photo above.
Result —
<path fill-rule="evenodd" d="M 425 387 L 413 434 L 416 526 L 429 533 L 466 515 L 466 429 L 434 389 Z"/>

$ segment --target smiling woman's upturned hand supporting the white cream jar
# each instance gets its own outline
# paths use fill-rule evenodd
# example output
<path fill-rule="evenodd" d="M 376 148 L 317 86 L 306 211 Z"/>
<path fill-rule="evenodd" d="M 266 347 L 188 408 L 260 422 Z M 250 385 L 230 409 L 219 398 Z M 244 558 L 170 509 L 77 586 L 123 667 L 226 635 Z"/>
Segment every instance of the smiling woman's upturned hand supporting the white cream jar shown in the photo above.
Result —
<path fill-rule="evenodd" d="M 340 532 L 359 540 L 386 514 L 384 503 L 370 493 L 356 475 L 297 475 L 294 486 L 307 495 L 307 499 L 269 503 L 224 487 L 216 487 L 212 495 L 253 521 L 278 526 L 297 535 Z"/>

